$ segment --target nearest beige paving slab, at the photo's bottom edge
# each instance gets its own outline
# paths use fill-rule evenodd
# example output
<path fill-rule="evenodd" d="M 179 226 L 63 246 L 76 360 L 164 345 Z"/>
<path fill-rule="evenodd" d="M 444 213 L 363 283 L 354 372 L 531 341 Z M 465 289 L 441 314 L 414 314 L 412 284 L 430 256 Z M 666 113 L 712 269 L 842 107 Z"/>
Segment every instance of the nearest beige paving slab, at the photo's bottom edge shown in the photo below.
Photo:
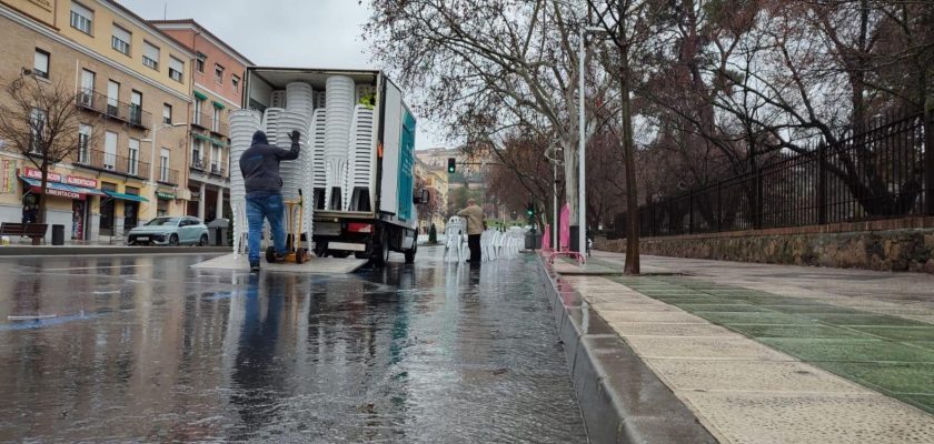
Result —
<path fill-rule="evenodd" d="M 679 395 L 704 412 L 724 441 L 734 444 L 934 442 L 934 416 L 877 394 Z"/>

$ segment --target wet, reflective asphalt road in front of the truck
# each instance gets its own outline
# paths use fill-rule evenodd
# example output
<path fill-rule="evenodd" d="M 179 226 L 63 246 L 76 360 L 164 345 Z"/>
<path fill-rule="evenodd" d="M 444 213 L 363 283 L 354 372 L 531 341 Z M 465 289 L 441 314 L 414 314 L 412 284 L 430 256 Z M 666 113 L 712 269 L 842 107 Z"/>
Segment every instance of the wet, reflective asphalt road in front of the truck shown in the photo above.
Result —
<path fill-rule="evenodd" d="M 0 261 L 0 442 L 585 442 L 534 258 Z M 10 315 L 54 314 L 41 321 Z"/>

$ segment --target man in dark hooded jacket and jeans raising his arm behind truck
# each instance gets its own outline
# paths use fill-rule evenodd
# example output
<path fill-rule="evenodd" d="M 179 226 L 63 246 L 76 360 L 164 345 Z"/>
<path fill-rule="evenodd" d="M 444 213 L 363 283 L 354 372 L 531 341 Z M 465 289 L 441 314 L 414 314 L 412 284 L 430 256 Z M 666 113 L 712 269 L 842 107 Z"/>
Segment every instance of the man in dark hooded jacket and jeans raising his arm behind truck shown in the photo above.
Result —
<path fill-rule="evenodd" d="M 282 228 L 285 203 L 282 202 L 282 178 L 279 176 L 279 162 L 296 160 L 301 147 L 298 131 L 289 134 L 291 150 L 286 151 L 269 144 L 266 133 L 254 133 L 252 144 L 240 155 L 240 172 L 244 174 L 247 191 L 247 221 L 249 222 L 250 271 L 259 271 L 259 243 L 262 236 L 262 220 L 269 221 L 272 229 L 272 243 L 276 256 L 284 258 L 286 251 L 286 231 Z"/>

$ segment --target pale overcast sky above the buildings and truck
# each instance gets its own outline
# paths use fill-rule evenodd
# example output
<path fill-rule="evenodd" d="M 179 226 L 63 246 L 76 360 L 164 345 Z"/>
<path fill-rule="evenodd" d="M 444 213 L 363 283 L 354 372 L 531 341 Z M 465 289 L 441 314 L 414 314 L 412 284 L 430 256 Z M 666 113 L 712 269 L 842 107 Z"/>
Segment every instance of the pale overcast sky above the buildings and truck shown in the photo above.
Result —
<path fill-rule="evenodd" d="M 360 38 L 360 27 L 369 19 L 366 2 L 361 6 L 357 0 L 118 1 L 145 19 L 195 19 L 259 65 L 379 68 L 372 64 L 369 48 Z M 417 149 L 444 145 L 444 139 L 428 130 L 428 123 L 418 122 Z"/>

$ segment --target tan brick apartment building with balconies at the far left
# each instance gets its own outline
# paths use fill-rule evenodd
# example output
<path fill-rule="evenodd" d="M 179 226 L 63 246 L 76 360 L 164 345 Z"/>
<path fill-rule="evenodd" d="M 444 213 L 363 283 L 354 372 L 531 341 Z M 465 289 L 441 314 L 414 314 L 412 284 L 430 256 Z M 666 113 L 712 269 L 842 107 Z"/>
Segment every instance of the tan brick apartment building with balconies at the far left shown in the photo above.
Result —
<path fill-rule="evenodd" d="M 97 241 L 186 212 L 192 51 L 110 0 L 0 0 L 0 82 L 32 75 L 78 93 L 81 145 L 54 167 L 48 223 Z M 42 192 L 30 165 L 0 149 L 0 221 L 19 222 Z"/>

